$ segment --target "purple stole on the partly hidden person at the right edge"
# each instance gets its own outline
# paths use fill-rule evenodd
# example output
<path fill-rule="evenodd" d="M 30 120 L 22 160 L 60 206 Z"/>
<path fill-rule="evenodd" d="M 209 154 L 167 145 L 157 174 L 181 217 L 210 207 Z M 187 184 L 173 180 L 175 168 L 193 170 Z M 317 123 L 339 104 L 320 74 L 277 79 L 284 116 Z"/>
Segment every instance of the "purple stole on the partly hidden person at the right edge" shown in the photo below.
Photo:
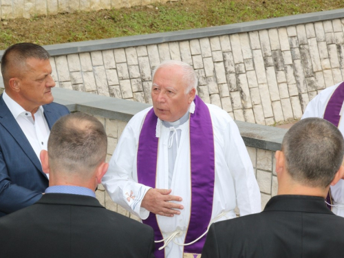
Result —
<path fill-rule="evenodd" d="M 323 119 L 332 122 L 332 124 L 336 127 L 339 125 L 339 121 L 341 120 L 341 109 L 344 102 L 344 82 L 338 85 L 338 87 L 334 90 L 330 100 L 326 105 L 325 113 L 323 115 Z M 330 190 L 328 191 L 326 202 L 332 204 L 332 197 Z M 331 206 L 326 204 L 328 208 L 331 209 Z"/>

